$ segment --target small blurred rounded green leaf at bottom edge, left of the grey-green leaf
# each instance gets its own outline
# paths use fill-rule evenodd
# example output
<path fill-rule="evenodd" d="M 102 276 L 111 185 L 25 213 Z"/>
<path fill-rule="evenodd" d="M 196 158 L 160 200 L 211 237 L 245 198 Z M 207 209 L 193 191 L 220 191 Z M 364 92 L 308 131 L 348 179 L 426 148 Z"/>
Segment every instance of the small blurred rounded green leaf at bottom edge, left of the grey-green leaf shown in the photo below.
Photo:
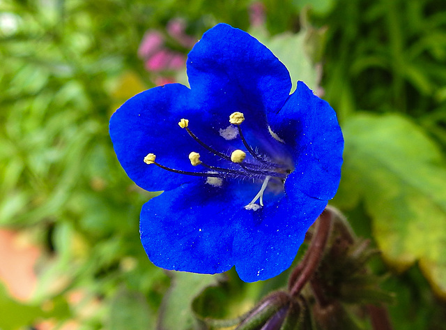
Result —
<path fill-rule="evenodd" d="M 110 330 L 154 329 L 155 317 L 148 308 L 146 297 L 121 287 L 110 305 Z"/>

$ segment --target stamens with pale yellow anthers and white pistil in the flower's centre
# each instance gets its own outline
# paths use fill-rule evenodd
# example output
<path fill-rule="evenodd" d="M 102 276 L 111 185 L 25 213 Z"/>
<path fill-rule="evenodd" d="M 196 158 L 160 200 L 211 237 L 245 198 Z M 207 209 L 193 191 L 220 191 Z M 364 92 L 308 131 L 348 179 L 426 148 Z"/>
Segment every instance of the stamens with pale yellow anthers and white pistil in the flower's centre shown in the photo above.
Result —
<path fill-rule="evenodd" d="M 184 128 L 187 133 L 192 137 L 193 140 L 195 140 L 198 144 L 201 145 L 204 149 L 207 151 L 210 151 L 210 153 L 213 153 L 215 156 L 219 156 L 220 158 L 226 160 L 229 162 L 229 164 L 237 165 L 238 168 L 231 166 L 232 168 L 224 168 L 224 167 L 216 167 L 211 166 L 206 163 L 203 163 L 200 159 L 200 154 L 192 151 L 189 154 L 189 160 L 190 163 L 193 166 L 201 166 L 206 168 L 206 172 L 189 172 L 189 171 L 183 171 L 183 170 L 176 170 L 172 169 L 170 167 L 166 167 L 160 163 L 157 163 L 155 161 L 155 154 L 148 153 L 148 155 L 144 158 L 144 163 L 146 164 L 155 164 L 158 167 L 162 168 L 163 170 L 167 170 L 170 172 L 175 172 L 178 174 L 186 174 L 186 175 L 192 175 L 195 177 L 206 177 L 207 183 L 211 184 L 212 186 L 222 186 L 222 179 L 231 178 L 231 179 L 260 179 L 263 181 L 261 188 L 259 190 L 259 193 L 254 197 L 254 199 L 247 204 L 245 209 L 250 209 L 256 211 L 257 209 L 263 207 L 263 193 L 265 192 L 266 188 L 268 187 L 268 183 L 272 183 L 272 181 L 275 182 L 275 185 L 277 186 L 277 183 L 283 188 L 284 181 L 289 173 L 293 170 L 289 166 L 286 166 L 285 164 L 279 164 L 272 161 L 267 156 L 262 155 L 261 153 L 254 150 L 245 140 L 245 137 L 243 136 L 242 129 L 240 127 L 240 124 L 245 121 L 245 117 L 243 113 L 241 112 L 234 112 L 229 117 L 229 122 L 236 126 L 238 130 L 238 135 L 240 135 L 240 139 L 243 142 L 243 145 L 245 146 L 247 153 L 249 153 L 252 158 L 247 161 L 246 156 L 247 153 L 243 150 L 237 149 L 231 153 L 230 156 L 226 155 L 225 153 L 222 153 L 220 151 L 217 151 L 213 149 L 212 147 L 208 146 L 208 144 L 204 143 L 192 133 L 192 130 L 189 128 L 189 120 L 188 119 L 181 119 L 178 122 L 178 126 L 180 128 Z M 259 204 L 255 204 L 256 201 L 259 200 Z"/>

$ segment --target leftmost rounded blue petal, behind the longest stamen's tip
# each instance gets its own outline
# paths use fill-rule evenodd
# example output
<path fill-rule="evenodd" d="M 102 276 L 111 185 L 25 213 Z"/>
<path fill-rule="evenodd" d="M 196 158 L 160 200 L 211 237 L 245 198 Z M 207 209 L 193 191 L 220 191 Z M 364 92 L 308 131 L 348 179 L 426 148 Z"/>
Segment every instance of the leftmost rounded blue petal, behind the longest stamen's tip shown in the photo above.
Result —
<path fill-rule="evenodd" d="M 197 180 L 144 163 L 148 153 L 155 153 L 162 165 L 195 170 L 188 155 L 196 142 L 178 126 L 185 117 L 201 119 L 201 113 L 190 99 L 190 89 L 180 84 L 139 93 L 113 114 L 109 129 L 116 155 L 130 179 L 141 188 L 169 190 Z"/>

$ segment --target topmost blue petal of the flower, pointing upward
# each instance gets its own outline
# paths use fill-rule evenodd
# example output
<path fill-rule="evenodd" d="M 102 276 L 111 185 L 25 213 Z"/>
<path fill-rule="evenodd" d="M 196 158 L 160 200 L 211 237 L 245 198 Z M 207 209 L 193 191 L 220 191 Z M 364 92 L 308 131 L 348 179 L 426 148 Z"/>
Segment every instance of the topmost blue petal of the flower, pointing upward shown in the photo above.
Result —
<path fill-rule="evenodd" d="M 288 70 L 258 40 L 240 29 L 218 24 L 204 33 L 187 59 L 192 93 L 201 108 L 215 114 L 212 126 L 229 125 L 243 112 L 246 130 L 267 132 L 266 112 L 284 105 L 291 90 Z"/>

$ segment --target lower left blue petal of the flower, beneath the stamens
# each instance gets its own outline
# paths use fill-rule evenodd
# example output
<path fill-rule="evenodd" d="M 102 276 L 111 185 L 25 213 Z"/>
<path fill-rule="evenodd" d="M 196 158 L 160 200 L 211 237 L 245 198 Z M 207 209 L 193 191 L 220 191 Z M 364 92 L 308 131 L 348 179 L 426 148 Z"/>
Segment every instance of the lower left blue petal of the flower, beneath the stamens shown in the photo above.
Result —
<path fill-rule="evenodd" d="M 248 184 L 236 189 L 234 182 L 214 187 L 204 180 L 164 192 L 144 204 L 141 242 L 158 267 L 221 273 L 233 266 L 233 237 L 240 220 L 233 215 L 254 197 L 256 187 Z"/>

